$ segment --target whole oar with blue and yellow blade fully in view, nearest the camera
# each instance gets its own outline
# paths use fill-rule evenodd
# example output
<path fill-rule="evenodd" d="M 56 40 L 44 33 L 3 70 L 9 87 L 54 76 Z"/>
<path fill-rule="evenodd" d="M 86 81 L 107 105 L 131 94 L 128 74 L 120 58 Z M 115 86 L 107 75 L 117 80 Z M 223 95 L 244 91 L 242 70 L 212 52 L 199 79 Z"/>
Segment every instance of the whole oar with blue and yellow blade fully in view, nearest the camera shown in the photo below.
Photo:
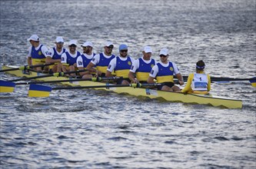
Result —
<path fill-rule="evenodd" d="M 133 88 L 141 88 L 145 86 L 158 86 L 162 84 L 128 84 L 128 85 L 95 85 L 95 86 L 74 86 L 74 87 L 59 87 L 59 88 L 51 88 L 49 86 L 44 85 L 35 85 L 31 84 L 29 86 L 28 97 L 49 97 L 49 94 L 52 90 L 61 90 L 61 89 L 81 89 L 81 88 L 124 88 L 124 87 L 133 87 Z"/>

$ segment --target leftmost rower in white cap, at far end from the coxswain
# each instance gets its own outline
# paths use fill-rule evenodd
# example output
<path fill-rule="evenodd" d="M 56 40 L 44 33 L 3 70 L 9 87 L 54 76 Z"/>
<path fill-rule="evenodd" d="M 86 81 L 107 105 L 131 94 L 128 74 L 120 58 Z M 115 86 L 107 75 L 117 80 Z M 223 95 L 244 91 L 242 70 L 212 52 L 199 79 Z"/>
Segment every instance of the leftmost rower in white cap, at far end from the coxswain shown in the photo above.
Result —
<path fill-rule="evenodd" d="M 27 40 L 31 44 L 28 48 L 28 65 L 45 64 L 45 58 L 48 55 L 47 46 L 40 44 L 38 35 L 32 35 Z M 35 68 L 35 71 L 42 71 L 42 67 Z"/>

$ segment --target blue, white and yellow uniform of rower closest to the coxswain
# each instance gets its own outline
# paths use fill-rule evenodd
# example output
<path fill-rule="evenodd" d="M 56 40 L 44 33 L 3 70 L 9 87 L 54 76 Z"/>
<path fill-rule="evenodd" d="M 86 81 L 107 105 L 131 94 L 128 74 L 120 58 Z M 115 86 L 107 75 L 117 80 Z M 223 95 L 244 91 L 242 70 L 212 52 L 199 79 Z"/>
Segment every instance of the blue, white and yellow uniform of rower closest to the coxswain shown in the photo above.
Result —
<path fill-rule="evenodd" d="M 171 88 L 172 86 L 175 85 L 173 77 L 174 77 L 174 75 L 177 75 L 178 73 L 180 73 L 180 72 L 178 71 L 178 68 L 175 65 L 175 63 L 168 61 L 167 64 L 164 64 L 162 62 L 157 63 L 152 68 L 149 76 L 151 78 L 155 78 L 158 81 L 158 83 L 163 83 L 164 85 L 167 85 L 168 87 Z M 161 88 L 164 85 L 159 85 L 158 90 L 161 91 Z"/>

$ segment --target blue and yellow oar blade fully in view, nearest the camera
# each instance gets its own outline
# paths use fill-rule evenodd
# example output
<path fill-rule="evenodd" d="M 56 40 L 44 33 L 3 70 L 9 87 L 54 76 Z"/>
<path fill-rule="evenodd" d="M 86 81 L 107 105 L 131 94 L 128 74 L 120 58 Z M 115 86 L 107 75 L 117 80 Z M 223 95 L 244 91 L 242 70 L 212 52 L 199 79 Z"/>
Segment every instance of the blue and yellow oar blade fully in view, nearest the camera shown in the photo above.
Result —
<path fill-rule="evenodd" d="M 51 87 L 32 84 L 29 86 L 28 97 L 49 97 Z"/>

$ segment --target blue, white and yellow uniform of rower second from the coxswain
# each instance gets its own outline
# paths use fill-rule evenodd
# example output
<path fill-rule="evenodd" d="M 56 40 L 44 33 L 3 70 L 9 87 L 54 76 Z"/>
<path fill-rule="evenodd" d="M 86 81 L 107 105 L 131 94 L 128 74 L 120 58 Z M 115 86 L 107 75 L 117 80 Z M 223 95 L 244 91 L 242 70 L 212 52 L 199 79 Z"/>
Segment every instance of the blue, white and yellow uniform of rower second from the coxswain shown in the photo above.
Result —
<path fill-rule="evenodd" d="M 148 75 L 151 69 L 156 64 L 155 59 L 151 58 L 149 61 L 145 61 L 143 58 L 138 58 L 131 65 L 130 71 L 136 74 L 136 78 L 140 82 L 147 82 Z"/>

